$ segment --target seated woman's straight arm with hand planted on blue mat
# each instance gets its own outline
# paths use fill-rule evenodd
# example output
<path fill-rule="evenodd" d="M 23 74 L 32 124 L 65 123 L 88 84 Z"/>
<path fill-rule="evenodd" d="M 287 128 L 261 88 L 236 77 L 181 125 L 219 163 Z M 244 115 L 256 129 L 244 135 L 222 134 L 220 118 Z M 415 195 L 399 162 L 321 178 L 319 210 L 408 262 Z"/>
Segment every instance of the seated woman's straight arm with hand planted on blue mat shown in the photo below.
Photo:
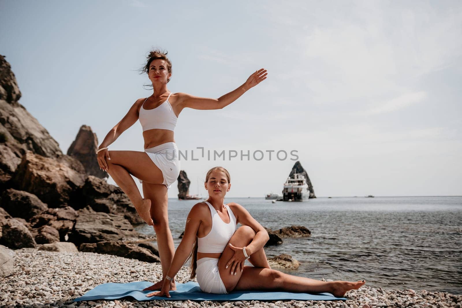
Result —
<path fill-rule="evenodd" d="M 201 217 L 203 217 L 203 209 L 203 206 L 201 207 L 200 204 L 196 204 L 193 206 L 191 211 L 189 211 L 188 218 L 186 218 L 186 226 L 184 228 L 183 238 L 180 242 L 180 245 L 178 245 L 178 248 L 176 248 L 175 255 L 173 256 L 172 263 L 167 272 L 167 276 L 170 278 L 173 278 L 176 275 L 176 273 L 181 269 L 186 260 L 188 260 L 191 251 L 193 250 L 193 245 L 196 241 L 197 230 L 199 229 L 199 225 L 201 224 Z M 164 279 L 164 285 L 162 286 L 162 290 L 149 293 L 146 296 L 170 297 L 169 291 L 170 280 Z"/>

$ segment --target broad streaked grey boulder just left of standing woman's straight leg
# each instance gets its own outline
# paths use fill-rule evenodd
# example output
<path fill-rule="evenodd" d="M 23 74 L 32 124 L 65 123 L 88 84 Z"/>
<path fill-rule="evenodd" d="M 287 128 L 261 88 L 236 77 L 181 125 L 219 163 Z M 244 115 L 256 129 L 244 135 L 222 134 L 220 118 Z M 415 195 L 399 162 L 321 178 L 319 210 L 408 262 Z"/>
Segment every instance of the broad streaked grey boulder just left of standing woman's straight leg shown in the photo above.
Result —
<path fill-rule="evenodd" d="M 91 207 L 78 211 L 74 229 L 69 241 L 80 246 L 82 243 L 120 241 L 143 237 L 121 214 L 96 212 Z"/>

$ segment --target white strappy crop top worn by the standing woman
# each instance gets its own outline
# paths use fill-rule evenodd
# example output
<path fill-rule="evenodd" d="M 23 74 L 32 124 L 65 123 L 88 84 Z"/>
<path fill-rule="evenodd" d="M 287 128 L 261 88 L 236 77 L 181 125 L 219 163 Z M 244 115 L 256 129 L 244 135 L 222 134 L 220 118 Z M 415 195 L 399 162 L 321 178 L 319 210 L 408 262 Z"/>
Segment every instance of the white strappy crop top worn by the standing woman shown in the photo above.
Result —
<path fill-rule="evenodd" d="M 170 93 L 170 95 L 172 95 Z M 143 105 L 146 103 L 148 97 L 146 97 L 145 101 L 141 105 L 140 108 L 140 123 L 141 127 L 143 127 L 143 132 L 149 129 L 159 128 L 159 129 L 168 129 L 170 131 L 175 130 L 176 121 L 178 118 L 173 112 L 173 108 L 170 105 L 169 97 L 165 100 L 164 103 L 161 103 L 154 109 L 144 109 Z"/>

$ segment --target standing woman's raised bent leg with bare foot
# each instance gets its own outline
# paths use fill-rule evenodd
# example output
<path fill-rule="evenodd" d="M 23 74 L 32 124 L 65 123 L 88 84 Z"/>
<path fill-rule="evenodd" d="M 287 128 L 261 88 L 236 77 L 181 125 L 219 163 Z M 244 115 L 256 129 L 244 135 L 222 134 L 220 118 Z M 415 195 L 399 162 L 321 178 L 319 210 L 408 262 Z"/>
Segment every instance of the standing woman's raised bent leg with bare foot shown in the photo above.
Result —
<path fill-rule="evenodd" d="M 152 162 L 145 152 L 139 151 L 109 151 L 110 160 L 106 159 L 108 173 L 116 184 L 127 194 L 140 217 L 152 225 L 151 201 L 143 199 L 135 181 L 130 174 L 141 181 L 161 184 L 164 181 L 162 171 Z"/>

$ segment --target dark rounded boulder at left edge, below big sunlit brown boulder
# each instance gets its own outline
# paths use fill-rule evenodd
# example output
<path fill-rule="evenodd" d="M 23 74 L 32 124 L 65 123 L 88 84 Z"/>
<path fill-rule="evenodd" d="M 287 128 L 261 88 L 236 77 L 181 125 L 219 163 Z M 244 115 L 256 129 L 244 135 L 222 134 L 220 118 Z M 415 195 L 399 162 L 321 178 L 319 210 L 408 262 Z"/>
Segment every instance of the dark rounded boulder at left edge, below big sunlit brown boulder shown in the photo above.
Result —
<path fill-rule="evenodd" d="M 7 189 L 1 196 L 1 207 L 13 217 L 29 220 L 48 209 L 36 195 L 13 188 Z"/>

